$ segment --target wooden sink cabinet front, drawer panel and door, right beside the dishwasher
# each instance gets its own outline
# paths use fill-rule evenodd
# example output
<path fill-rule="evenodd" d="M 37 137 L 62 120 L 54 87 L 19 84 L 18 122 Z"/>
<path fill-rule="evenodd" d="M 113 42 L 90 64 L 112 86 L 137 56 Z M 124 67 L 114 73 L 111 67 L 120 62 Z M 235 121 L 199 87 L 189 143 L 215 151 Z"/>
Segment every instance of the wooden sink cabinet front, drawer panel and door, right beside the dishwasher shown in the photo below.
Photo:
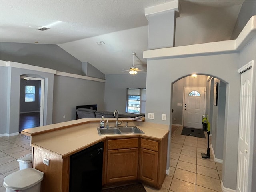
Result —
<path fill-rule="evenodd" d="M 137 180 L 138 138 L 108 140 L 106 184 Z"/>

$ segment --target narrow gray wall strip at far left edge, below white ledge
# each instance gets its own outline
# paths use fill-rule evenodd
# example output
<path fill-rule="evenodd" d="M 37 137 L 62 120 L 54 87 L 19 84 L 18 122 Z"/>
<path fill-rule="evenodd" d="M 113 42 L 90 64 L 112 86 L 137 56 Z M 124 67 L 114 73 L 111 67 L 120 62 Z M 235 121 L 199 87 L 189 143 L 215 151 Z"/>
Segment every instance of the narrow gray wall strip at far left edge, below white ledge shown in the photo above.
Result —
<path fill-rule="evenodd" d="M 0 66 L 0 134 L 6 133 L 7 127 L 7 84 L 8 68 Z"/>

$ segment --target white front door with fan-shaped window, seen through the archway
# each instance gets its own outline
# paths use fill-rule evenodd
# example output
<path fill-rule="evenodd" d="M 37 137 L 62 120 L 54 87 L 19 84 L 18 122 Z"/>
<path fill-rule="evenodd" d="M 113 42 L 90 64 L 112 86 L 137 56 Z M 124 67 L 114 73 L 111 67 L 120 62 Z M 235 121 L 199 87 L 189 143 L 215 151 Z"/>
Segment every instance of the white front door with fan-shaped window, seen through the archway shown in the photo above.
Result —
<path fill-rule="evenodd" d="M 202 129 L 205 113 L 205 87 L 184 88 L 184 127 Z"/>

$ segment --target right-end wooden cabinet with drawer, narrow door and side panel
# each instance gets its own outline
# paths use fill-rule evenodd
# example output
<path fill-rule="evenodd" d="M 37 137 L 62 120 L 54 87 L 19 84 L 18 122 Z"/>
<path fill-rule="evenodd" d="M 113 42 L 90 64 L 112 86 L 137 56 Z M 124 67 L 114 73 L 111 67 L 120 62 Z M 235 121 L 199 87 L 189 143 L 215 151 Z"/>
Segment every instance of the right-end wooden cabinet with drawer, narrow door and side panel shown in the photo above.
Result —
<path fill-rule="evenodd" d="M 162 141 L 140 139 L 139 179 L 158 189 L 166 176 L 167 142 L 167 136 Z"/>

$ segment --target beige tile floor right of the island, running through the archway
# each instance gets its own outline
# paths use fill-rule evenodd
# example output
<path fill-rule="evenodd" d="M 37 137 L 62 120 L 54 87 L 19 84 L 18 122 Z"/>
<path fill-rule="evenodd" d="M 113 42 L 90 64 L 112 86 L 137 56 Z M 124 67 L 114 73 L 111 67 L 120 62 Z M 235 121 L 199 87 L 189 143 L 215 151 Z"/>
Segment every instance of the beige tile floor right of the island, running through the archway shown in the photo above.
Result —
<path fill-rule="evenodd" d="M 179 127 L 171 140 L 170 174 L 161 190 L 144 186 L 147 192 L 221 192 L 222 164 L 215 163 L 201 153 L 207 150 L 206 138 L 181 135 Z M 211 138 L 211 137 L 210 137 Z"/>

